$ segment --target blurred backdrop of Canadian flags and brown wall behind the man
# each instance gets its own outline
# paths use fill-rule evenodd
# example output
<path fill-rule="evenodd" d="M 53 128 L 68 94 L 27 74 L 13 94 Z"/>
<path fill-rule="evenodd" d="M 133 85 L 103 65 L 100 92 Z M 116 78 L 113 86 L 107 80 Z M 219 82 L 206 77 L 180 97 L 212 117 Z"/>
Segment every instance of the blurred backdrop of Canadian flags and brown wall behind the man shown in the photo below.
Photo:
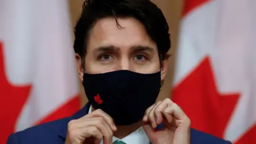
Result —
<path fill-rule="evenodd" d="M 83 2 L 0 0 L 0 143 L 87 102 L 73 51 Z M 178 103 L 195 129 L 256 143 L 256 1 L 153 2 L 172 42 L 158 100 Z"/>

